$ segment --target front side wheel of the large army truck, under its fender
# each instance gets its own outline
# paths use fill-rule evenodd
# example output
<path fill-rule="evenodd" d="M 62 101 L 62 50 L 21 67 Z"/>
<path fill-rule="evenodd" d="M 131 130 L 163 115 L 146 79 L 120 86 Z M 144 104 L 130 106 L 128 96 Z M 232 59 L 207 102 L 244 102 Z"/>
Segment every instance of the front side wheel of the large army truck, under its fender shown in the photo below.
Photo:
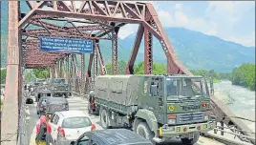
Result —
<path fill-rule="evenodd" d="M 139 122 L 136 133 L 148 140 L 152 141 L 152 138 L 154 137 L 154 133 L 151 132 L 146 122 Z"/>

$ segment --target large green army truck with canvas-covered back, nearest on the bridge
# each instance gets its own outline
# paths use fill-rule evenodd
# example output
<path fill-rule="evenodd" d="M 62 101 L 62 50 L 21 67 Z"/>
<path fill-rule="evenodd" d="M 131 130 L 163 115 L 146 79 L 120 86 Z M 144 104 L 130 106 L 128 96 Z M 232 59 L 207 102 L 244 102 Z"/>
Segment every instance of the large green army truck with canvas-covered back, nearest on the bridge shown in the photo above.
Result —
<path fill-rule="evenodd" d="M 101 75 L 95 83 L 96 110 L 105 129 L 128 127 L 153 142 L 181 138 L 194 144 L 216 125 L 203 76 Z"/>

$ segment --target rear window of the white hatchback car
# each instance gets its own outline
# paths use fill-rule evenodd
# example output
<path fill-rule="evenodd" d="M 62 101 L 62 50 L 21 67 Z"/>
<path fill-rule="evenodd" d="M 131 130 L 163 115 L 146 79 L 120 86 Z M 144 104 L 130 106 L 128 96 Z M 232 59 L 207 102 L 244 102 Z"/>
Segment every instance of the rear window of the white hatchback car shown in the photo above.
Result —
<path fill-rule="evenodd" d="M 85 128 L 92 125 L 91 120 L 86 116 L 70 117 L 63 120 L 63 128 Z"/>

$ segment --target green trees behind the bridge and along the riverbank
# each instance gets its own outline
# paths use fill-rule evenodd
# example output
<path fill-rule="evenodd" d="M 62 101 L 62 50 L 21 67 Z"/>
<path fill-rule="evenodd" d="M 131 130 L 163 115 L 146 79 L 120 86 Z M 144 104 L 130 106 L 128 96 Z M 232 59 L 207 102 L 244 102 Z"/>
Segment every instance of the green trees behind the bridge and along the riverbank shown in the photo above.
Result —
<path fill-rule="evenodd" d="M 112 64 L 106 65 L 109 74 L 112 74 Z M 118 74 L 125 74 L 126 62 L 118 61 Z M 255 90 L 255 64 L 245 63 L 242 66 L 235 68 L 232 73 L 217 73 L 214 70 L 190 70 L 194 75 L 204 75 L 207 80 L 210 76 L 213 78 L 214 83 L 222 80 L 230 80 L 233 85 L 244 86 L 250 90 Z M 134 66 L 135 74 L 144 73 L 144 62 L 139 62 Z M 167 73 L 166 66 L 158 62 L 153 64 L 154 74 Z M 25 80 L 31 81 L 33 78 L 47 78 L 49 76 L 47 69 L 32 69 L 30 73 L 25 74 Z M 6 82 L 6 70 L 1 70 L 1 84 Z"/>

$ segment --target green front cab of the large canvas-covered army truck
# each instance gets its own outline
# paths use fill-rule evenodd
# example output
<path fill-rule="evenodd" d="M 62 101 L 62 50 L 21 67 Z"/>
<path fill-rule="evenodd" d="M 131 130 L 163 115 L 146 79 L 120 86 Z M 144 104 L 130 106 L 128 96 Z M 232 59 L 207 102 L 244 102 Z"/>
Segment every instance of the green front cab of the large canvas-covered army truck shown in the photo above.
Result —
<path fill-rule="evenodd" d="M 147 91 L 148 89 L 148 91 Z M 159 141 L 180 137 L 197 142 L 200 133 L 214 128 L 210 118 L 210 94 L 203 76 L 163 75 L 144 79 L 141 106 L 156 116 Z"/>

